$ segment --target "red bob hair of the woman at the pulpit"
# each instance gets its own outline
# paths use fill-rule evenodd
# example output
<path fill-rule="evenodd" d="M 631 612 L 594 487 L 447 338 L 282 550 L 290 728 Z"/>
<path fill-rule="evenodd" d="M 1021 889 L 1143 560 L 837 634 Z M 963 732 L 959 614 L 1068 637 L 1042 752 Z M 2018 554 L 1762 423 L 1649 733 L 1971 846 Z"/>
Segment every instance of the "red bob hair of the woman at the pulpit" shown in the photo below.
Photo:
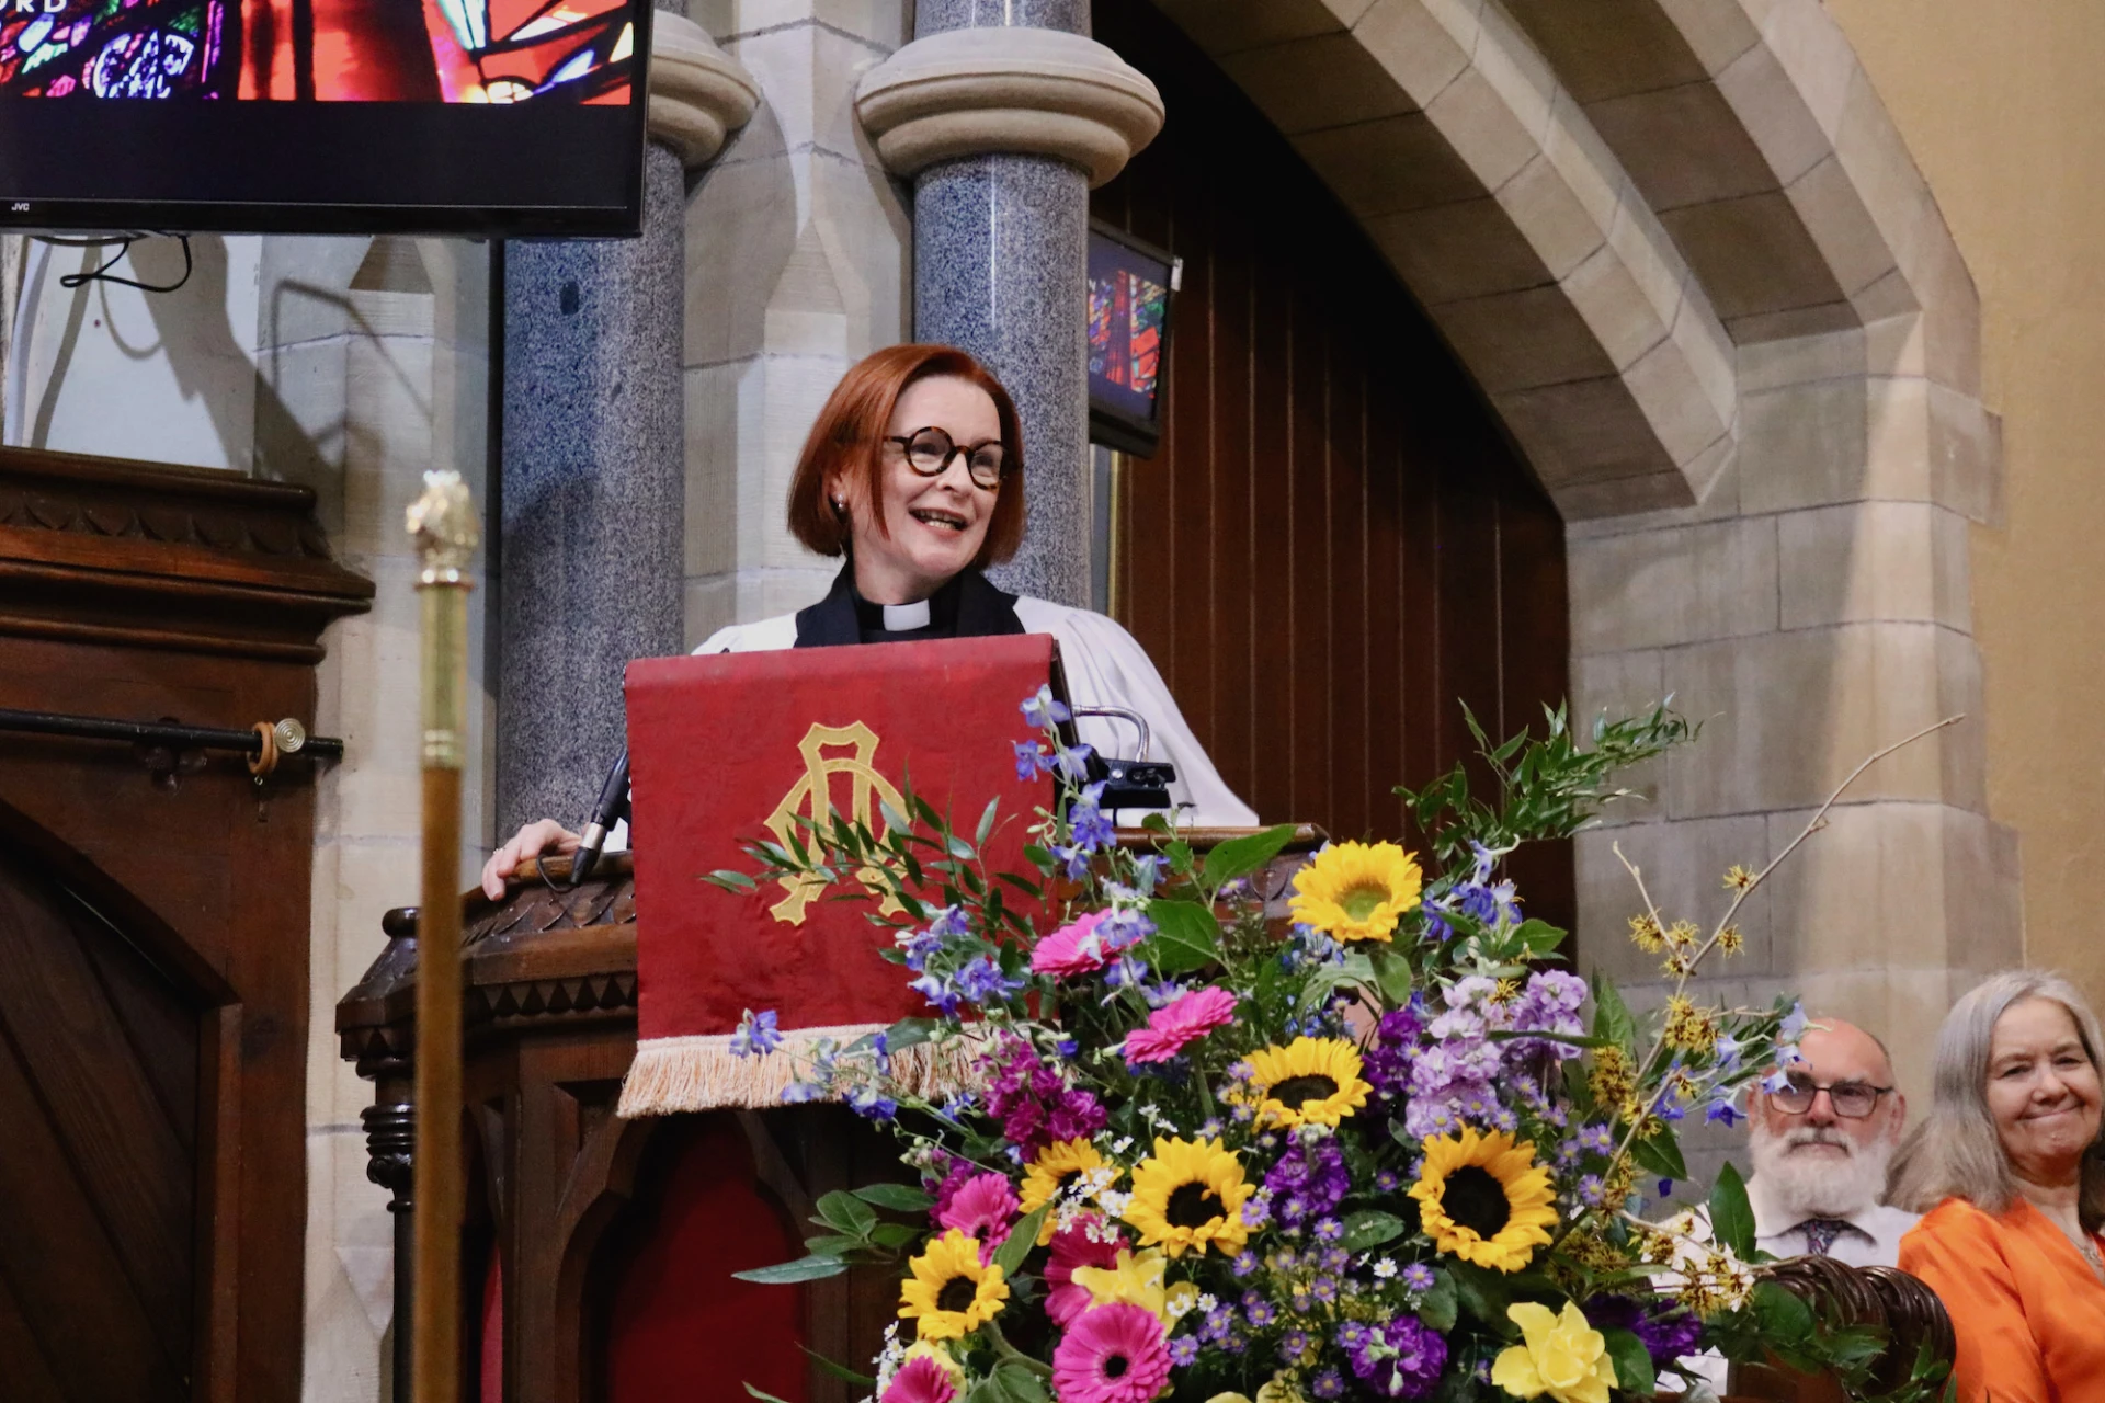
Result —
<path fill-rule="evenodd" d="M 1017 553 L 1023 545 L 1023 429 L 1017 423 L 1017 404 L 985 366 L 958 347 L 916 343 L 871 351 L 840 377 L 840 385 L 827 395 L 819 421 L 804 440 L 804 452 L 798 454 L 796 480 L 789 484 L 789 532 L 798 541 L 821 555 L 840 555 L 848 549 L 850 522 L 844 511 L 834 509 L 827 484 L 834 477 L 857 475 L 863 501 L 884 501 L 884 435 L 890 431 L 893 410 L 899 408 L 899 395 L 907 385 L 930 377 L 970 381 L 994 400 L 1010 469 L 994 499 L 987 538 L 973 564 L 989 566 Z M 882 511 L 871 526 L 878 534 L 890 534 Z"/>

